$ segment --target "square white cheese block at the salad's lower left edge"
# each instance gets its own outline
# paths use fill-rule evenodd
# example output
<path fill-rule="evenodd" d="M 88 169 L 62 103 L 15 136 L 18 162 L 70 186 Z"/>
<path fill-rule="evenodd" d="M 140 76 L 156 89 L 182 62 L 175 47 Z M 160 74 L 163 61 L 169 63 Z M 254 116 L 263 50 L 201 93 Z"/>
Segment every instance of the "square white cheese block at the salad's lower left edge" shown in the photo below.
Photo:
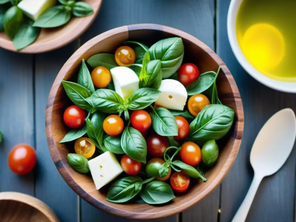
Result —
<path fill-rule="evenodd" d="M 123 172 L 114 153 L 109 151 L 89 160 L 89 170 L 91 171 L 91 176 L 97 190 L 101 189 Z"/>

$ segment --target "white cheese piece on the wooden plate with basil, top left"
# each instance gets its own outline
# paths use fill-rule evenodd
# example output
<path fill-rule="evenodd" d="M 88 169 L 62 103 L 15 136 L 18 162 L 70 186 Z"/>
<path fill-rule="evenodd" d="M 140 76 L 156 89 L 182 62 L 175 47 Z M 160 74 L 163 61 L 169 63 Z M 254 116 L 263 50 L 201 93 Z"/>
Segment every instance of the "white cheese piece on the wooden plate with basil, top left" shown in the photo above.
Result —
<path fill-rule="evenodd" d="M 36 21 L 38 17 L 57 3 L 56 0 L 22 0 L 17 7 L 22 9 L 25 15 Z"/>

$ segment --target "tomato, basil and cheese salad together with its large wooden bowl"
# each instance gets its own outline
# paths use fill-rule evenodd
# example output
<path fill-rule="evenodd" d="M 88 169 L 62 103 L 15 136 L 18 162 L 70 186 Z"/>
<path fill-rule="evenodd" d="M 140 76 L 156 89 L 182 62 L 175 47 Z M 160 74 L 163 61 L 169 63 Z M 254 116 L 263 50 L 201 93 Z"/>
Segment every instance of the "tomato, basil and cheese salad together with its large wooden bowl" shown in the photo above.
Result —
<path fill-rule="evenodd" d="M 46 111 L 50 152 L 69 186 L 130 218 L 178 213 L 212 192 L 242 131 L 239 91 L 221 59 L 193 36 L 153 24 L 81 46 Z"/>

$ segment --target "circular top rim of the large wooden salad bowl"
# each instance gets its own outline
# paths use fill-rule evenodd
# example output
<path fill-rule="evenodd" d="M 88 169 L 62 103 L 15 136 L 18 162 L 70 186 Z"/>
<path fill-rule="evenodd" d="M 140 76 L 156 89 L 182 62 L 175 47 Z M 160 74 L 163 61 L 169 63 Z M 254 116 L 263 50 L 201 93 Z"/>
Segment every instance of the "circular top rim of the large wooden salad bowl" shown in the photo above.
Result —
<path fill-rule="evenodd" d="M 191 207 L 192 205 L 196 204 L 200 200 L 202 200 L 204 197 L 209 195 L 211 192 L 213 192 L 222 182 L 222 180 L 225 178 L 225 176 L 228 174 L 229 170 L 231 169 L 231 166 L 233 165 L 235 158 L 237 156 L 237 153 L 239 151 L 239 147 L 241 144 L 241 138 L 242 138 L 242 132 L 243 132 L 243 126 L 244 126 L 244 114 L 243 114 L 243 108 L 237 109 L 236 112 L 236 119 L 237 119 L 237 127 L 235 127 L 235 132 L 234 132 L 234 143 L 232 146 L 232 149 L 229 153 L 228 158 L 225 161 L 225 164 L 221 168 L 220 172 L 216 176 L 216 178 L 210 183 L 210 185 L 198 196 L 192 197 L 190 201 L 178 205 L 178 204 L 170 204 L 166 209 L 161 211 L 160 214 L 156 213 L 147 213 L 147 212 L 134 212 L 134 211 L 127 211 L 127 210 L 122 210 L 120 208 L 120 204 L 116 205 L 118 207 L 113 207 L 113 206 L 107 206 L 102 202 L 97 201 L 95 198 L 93 198 L 89 193 L 86 193 L 77 183 L 73 185 L 73 179 L 71 178 L 71 173 L 69 172 L 68 168 L 68 162 L 66 160 L 63 160 L 63 158 L 60 156 L 59 150 L 56 147 L 56 143 L 52 137 L 52 126 L 47 127 L 47 123 L 51 124 L 52 121 L 52 107 L 54 104 L 54 101 L 56 100 L 56 94 L 58 91 L 58 88 L 61 84 L 61 80 L 65 78 L 65 75 L 67 74 L 69 68 L 71 67 L 77 59 L 81 59 L 81 56 L 83 55 L 84 52 L 89 50 L 92 46 L 97 44 L 98 42 L 109 38 L 110 36 L 118 33 L 124 33 L 126 31 L 132 31 L 132 30 L 159 30 L 163 31 L 165 33 L 169 33 L 172 35 L 180 36 L 181 38 L 184 38 L 186 40 L 189 40 L 193 44 L 196 44 L 200 47 L 203 48 L 205 52 L 210 54 L 210 56 L 218 63 L 218 65 L 221 66 L 221 69 L 223 70 L 225 74 L 232 92 L 236 92 L 235 94 L 235 105 L 236 107 L 242 107 L 242 100 L 239 94 L 239 90 L 237 88 L 237 84 L 234 81 L 234 78 L 232 77 L 229 69 L 226 67 L 225 63 L 222 61 L 220 57 L 212 50 L 210 49 L 206 44 L 204 44 L 202 41 L 198 40 L 194 36 L 185 33 L 181 30 L 171 28 L 168 26 L 164 25 L 158 25 L 158 24 L 134 24 L 134 25 L 125 25 L 121 26 L 118 28 L 114 28 L 111 30 L 108 30 L 104 33 L 101 33 L 100 35 L 90 39 L 87 41 L 85 44 L 83 44 L 74 54 L 67 60 L 67 62 L 64 64 L 64 66 L 61 68 L 59 71 L 57 78 L 55 79 L 52 89 L 49 93 L 49 95 L 54 95 L 54 98 L 48 98 L 48 103 L 46 107 L 46 135 L 47 135 L 47 141 L 48 141 L 48 146 L 50 149 L 51 156 L 53 158 L 53 161 L 61 174 L 61 176 L 64 178 L 64 180 L 67 182 L 67 184 L 73 189 L 74 192 L 76 192 L 80 197 L 82 197 L 84 200 L 86 200 L 88 203 L 91 205 L 104 210 L 107 213 L 112 213 L 118 216 L 125 216 L 128 218 L 137 218 L 137 219 L 154 219 L 154 218 L 161 218 L 161 217 L 166 217 L 170 216 L 176 213 L 180 213 L 187 208 Z M 86 58 L 85 58 L 86 59 Z M 238 121 L 239 120 L 239 121 Z M 242 129 L 242 132 L 239 134 L 238 129 Z M 53 145 L 52 145 L 53 144 Z M 58 157 L 58 158 L 55 158 Z M 72 182 L 72 183 L 71 183 Z M 152 206 L 154 207 L 154 206 Z"/>

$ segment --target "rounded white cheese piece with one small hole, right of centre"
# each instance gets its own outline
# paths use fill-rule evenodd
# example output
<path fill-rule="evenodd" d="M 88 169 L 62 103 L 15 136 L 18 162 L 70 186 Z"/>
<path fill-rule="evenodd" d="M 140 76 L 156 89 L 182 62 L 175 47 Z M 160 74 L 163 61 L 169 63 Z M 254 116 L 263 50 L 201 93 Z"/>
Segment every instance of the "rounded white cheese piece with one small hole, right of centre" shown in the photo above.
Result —
<path fill-rule="evenodd" d="M 182 83 L 174 79 L 164 79 L 158 89 L 160 96 L 155 104 L 171 110 L 183 110 L 186 105 L 187 91 Z"/>

